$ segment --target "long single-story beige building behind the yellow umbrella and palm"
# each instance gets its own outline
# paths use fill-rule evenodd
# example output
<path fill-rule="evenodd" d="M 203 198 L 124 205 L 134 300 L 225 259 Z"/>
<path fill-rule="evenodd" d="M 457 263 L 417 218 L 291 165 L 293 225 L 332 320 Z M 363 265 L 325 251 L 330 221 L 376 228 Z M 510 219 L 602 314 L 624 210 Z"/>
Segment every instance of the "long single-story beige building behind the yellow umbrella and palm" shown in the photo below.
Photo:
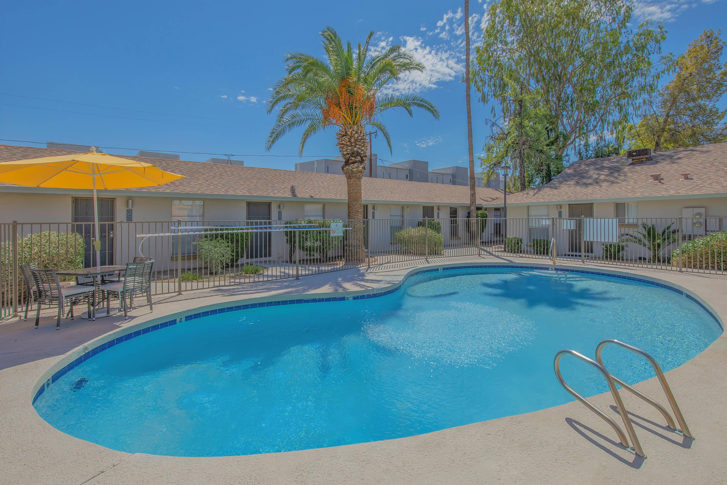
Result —
<path fill-rule="evenodd" d="M 0 145 L 0 161 L 72 153 L 78 152 Z M 99 192 L 102 247 L 116 246 L 113 258 L 109 257 L 110 252 L 106 254 L 102 249 L 102 263 L 112 260 L 116 264 L 126 262 L 133 255 L 130 249 L 134 247 L 138 234 L 169 232 L 176 220 L 223 225 L 246 220 L 347 218 L 348 198 L 345 177 L 342 175 L 140 156 L 122 157 L 153 164 L 184 175 L 185 178 L 159 187 Z M 492 206 L 492 201 L 502 199 L 501 190 L 477 188 L 476 191 L 478 207 L 486 204 Z M 467 217 L 469 212 L 469 188 L 462 185 L 364 177 L 362 192 L 364 217 L 389 220 L 387 226 L 404 227 L 410 225 L 407 220 L 420 220 L 422 217 L 456 220 Z M 31 230 L 31 225 L 27 223 L 35 224 L 32 230 L 36 232 L 63 231 L 57 223 L 66 224 L 65 230 L 71 231 L 71 225 L 75 224 L 78 228 L 79 223 L 89 224 L 93 220 L 90 191 L 0 184 L 0 207 L 0 225 L 14 220 L 26 223 L 22 229 L 24 233 Z M 107 231 L 116 233 L 107 234 Z M 386 232 L 390 232 L 388 227 Z M 454 236 L 454 233 L 447 231 L 449 236 Z M 116 238 L 116 242 L 109 244 L 105 238 Z M 89 234 L 87 239 L 90 241 Z M 124 250 L 119 249 L 121 239 L 126 241 Z M 282 244 L 272 244 L 272 250 L 276 250 L 276 247 L 281 252 L 286 251 Z M 265 249 L 265 252 L 269 250 Z M 173 252 L 170 256 L 174 256 Z M 274 256 L 283 258 L 285 255 Z M 88 257 L 91 257 L 90 250 Z M 165 263 L 160 261 L 160 264 Z"/>

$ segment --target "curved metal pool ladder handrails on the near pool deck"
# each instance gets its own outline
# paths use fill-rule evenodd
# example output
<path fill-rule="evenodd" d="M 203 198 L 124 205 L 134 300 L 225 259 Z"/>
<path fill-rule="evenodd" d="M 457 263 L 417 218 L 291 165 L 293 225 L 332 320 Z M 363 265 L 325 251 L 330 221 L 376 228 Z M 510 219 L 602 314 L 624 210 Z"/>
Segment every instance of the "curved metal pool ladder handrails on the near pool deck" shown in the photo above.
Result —
<path fill-rule="evenodd" d="M 625 348 L 626 350 L 631 350 L 633 353 L 638 354 L 639 356 L 642 356 L 643 358 L 646 358 L 649 364 L 651 364 L 652 367 L 654 367 L 654 372 L 656 372 L 656 377 L 659 379 L 659 383 L 662 385 L 662 389 L 664 390 L 664 394 L 667 396 L 667 401 L 669 401 L 670 406 L 672 407 L 672 411 L 674 412 L 675 417 L 677 418 L 677 422 L 679 423 L 680 429 L 676 428 L 674 424 L 674 420 L 672 420 L 671 415 L 669 412 L 667 412 L 666 409 L 664 409 L 664 406 L 654 401 L 654 399 L 649 398 L 643 393 L 640 393 L 638 390 L 632 388 L 630 385 L 628 385 L 626 382 L 620 380 L 618 377 L 615 377 L 612 375 L 605 366 L 603 366 L 603 360 L 601 358 L 601 350 L 603 350 L 606 345 L 618 345 L 621 348 Z M 603 378 L 606 379 L 606 383 L 608 384 L 608 389 L 611 390 L 611 396 L 614 398 L 614 402 L 616 403 L 616 409 L 619 412 L 619 415 L 621 416 L 622 421 L 624 422 L 624 427 L 626 428 L 626 431 L 628 433 L 628 436 L 631 440 L 632 446 L 629 446 L 629 441 L 626 438 L 626 435 L 624 434 L 623 430 L 619 425 L 616 424 L 614 420 L 612 420 L 610 417 L 606 416 L 601 409 L 598 409 L 596 406 L 594 406 L 590 401 L 588 401 L 585 397 L 581 396 L 579 393 L 577 393 L 573 388 L 571 388 L 568 384 L 566 384 L 566 381 L 563 380 L 563 376 L 561 375 L 561 358 L 565 355 L 571 355 L 575 358 L 578 358 L 581 361 L 584 361 L 587 364 L 590 364 L 591 366 L 595 367 L 595 369 L 598 369 L 598 372 L 601 372 L 603 375 Z M 627 448 L 632 449 L 635 454 L 638 454 L 640 457 L 646 458 L 646 454 L 643 453 L 643 449 L 641 449 L 641 445 L 638 441 L 638 438 L 636 437 L 636 433 L 634 431 L 633 425 L 631 424 L 631 420 L 628 417 L 628 412 L 626 410 L 626 407 L 624 406 L 624 403 L 621 399 L 621 395 L 619 394 L 618 389 L 616 388 L 616 383 L 620 385 L 622 388 L 628 390 L 630 393 L 633 393 L 635 396 L 638 396 L 642 398 L 644 401 L 646 401 L 648 404 L 651 404 L 651 406 L 654 406 L 656 409 L 659 410 L 660 413 L 662 413 L 662 416 L 664 416 L 664 419 L 667 420 L 667 426 L 670 428 L 670 430 L 674 431 L 675 433 L 681 433 L 683 436 L 686 436 L 687 438 L 690 438 L 691 440 L 694 440 L 694 436 L 692 436 L 691 432 L 689 431 L 688 426 L 686 425 L 686 421 L 684 420 L 684 417 L 679 409 L 679 406 L 677 405 L 677 401 L 674 398 L 674 395 L 672 394 L 672 390 L 669 388 L 669 384 L 667 383 L 666 377 L 664 377 L 664 373 L 662 372 L 661 367 L 659 367 L 659 364 L 656 363 L 656 360 L 654 360 L 654 357 L 650 356 L 648 353 L 646 353 L 644 350 L 641 350 L 640 348 L 636 348 L 633 345 L 628 345 L 624 342 L 619 342 L 619 340 L 603 340 L 603 342 L 600 342 L 595 349 L 595 361 L 593 359 L 587 358 L 586 356 L 577 353 L 574 350 L 561 350 L 560 352 L 555 354 L 555 359 L 553 360 L 553 368 L 555 369 L 555 377 L 558 378 L 558 382 L 561 383 L 563 388 L 567 390 L 571 396 L 574 398 L 577 398 L 578 401 L 581 401 L 588 409 L 595 412 L 595 414 L 598 414 L 601 419 L 608 422 L 609 425 L 611 425 L 611 428 L 614 428 L 614 431 L 616 432 L 616 435 L 619 437 L 619 441 L 621 441 L 621 444 L 623 446 L 626 446 Z"/>

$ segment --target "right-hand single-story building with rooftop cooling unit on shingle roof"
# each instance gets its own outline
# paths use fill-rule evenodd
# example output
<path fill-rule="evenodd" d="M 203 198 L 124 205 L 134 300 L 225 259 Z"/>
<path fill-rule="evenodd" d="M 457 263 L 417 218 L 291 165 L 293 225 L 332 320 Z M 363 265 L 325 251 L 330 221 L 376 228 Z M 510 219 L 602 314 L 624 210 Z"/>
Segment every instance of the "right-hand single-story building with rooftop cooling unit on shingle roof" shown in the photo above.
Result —
<path fill-rule="evenodd" d="M 598 256 L 603 244 L 643 231 L 643 223 L 677 228 L 679 217 L 686 238 L 727 231 L 727 143 L 579 160 L 550 183 L 508 193 L 507 218 L 516 220 L 507 236 L 521 237 L 524 246 L 553 237 L 552 217 L 572 218 L 561 222 L 560 235 L 556 231 L 569 241 L 558 245 L 559 254 L 579 253 L 585 241 L 584 251 Z"/>

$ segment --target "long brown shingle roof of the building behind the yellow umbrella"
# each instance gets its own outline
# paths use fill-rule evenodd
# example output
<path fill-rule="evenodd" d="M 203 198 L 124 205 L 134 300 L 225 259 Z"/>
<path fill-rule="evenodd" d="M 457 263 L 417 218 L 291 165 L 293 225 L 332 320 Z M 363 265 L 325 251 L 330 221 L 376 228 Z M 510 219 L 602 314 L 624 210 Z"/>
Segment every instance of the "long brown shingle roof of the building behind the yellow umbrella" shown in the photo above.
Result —
<path fill-rule="evenodd" d="M 0 161 L 36 159 L 76 153 L 55 148 L 36 148 L 16 145 L 0 145 Z M 238 167 L 200 161 L 152 159 L 139 156 L 122 158 L 154 164 L 169 172 L 185 175 L 185 178 L 160 187 L 127 189 L 133 192 L 222 195 L 266 199 L 325 199 L 345 200 L 346 182 L 343 175 L 292 170 Z M 0 184 L 0 186 L 9 185 Z M 408 182 L 364 177 L 362 182 L 364 201 L 401 202 L 422 204 L 469 204 L 469 188 L 462 185 Z M 28 191 L 33 189 L 28 188 Z M 478 204 L 485 204 L 502 196 L 493 188 L 478 188 Z"/>

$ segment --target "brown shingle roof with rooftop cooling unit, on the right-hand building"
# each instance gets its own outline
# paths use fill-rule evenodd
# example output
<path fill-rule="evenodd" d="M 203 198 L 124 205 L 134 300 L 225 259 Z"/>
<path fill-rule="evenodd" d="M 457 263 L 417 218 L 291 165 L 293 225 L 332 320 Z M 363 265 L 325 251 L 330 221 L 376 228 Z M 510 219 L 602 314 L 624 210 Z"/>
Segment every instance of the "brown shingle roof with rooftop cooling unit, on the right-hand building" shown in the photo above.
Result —
<path fill-rule="evenodd" d="M 659 151 L 643 164 L 629 165 L 626 156 L 575 161 L 542 187 L 508 193 L 507 204 L 708 194 L 727 194 L 727 143 Z"/>

